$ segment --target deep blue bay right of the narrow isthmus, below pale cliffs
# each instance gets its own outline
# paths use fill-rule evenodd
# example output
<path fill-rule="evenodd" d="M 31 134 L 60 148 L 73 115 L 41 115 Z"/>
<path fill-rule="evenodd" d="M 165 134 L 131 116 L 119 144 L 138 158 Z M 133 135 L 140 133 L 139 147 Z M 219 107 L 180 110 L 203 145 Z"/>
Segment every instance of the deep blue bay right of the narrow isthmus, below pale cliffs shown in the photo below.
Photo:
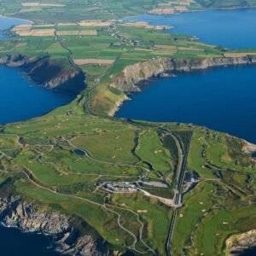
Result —
<path fill-rule="evenodd" d="M 117 117 L 205 125 L 256 143 L 256 67 L 177 73 L 130 97 Z"/>

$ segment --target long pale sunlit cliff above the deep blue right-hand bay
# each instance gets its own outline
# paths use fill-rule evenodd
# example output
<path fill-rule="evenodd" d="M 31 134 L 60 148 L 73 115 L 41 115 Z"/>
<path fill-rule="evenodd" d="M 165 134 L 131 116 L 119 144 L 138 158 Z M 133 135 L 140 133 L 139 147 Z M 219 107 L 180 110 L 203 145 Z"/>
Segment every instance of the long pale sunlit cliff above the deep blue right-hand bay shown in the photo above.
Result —
<path fill-rule="evenodd" d="M 209 67 L 250 65 L 256 63 L 255 56 L 237 58 L 171 59 L 156 58 L 125 67 L 113 76 L 113 86 L 124 92 L 139 91 L 138 83 L 162 73 L 189 72 Z"/>

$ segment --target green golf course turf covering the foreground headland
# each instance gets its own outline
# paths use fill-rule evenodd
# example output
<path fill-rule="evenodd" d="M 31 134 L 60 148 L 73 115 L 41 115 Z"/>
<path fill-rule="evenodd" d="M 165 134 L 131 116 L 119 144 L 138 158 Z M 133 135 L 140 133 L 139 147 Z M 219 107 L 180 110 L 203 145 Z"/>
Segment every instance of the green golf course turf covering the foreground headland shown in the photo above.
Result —
<path fill-rule="evenodd" d="M 18 193 L 26 198 L 35 199 L 38 203 L 48 205 L 55 211 L 77 214 L 93 226 L 114 249 L 123 250 L 125 245 L 131 245 L 131 236 L 119 229 L 115 214 L 106 211 L 103 207 L 106 192 L 101 190 L 92 192 L 95 191 L 97 182 L 136 181 L 142 173 L 137 166 L 143 166 L 143 160 L 155 163 L 156 168 L 152 170 L 152 174 L 159 171 L 162 166 L 165 167 L 166 160 L 172 160 L 169 157 L 165 160 L 164 156 L 162 160 L 154 157 L 154 149 L 165 151 L 166 156 L 170 154 L 167 148 L 163 148 L 164 145 L 160 143 L 160 137 L 159 140 L 155 137 L 155 148 L 152 148 L 151 144 L 147 144 L 147 140 L 145 141 L 145 135 L 156 136 L 159 134 L 158 125 L 148 126 L 143 123 L 129 125 L 124 121 L 87 115 L 68 116 L 65 112 L 61 114 L 61 110 L 59 110 L 57 114 L 49 113 L 42 118 L 5 125 L 2 128 L 1 152 L 5 155 L 1 159 L 1 165 L 6 172 L 1 174 L 2 182 L 6 180 L 4 186 L 0 186 L 3 195 L 10 192 Z M 177 133 L 177 131 L 189 131 L 190 128 L 186 125 L 173 124 L 166 125 L 166 129 Z M 132 153 L 136 136 L 140 141 L 137 154 L 140 153 L 142 145 L 144 148 L 142 153 L 138 154 L 140 159 L 137 159 L 137 155 Z M 91 138 L 95 143 L 90 143 Z M 108 143 L 109 138 L 112 138 L 111 142 L 114 141 L 114 143 Z M 207 159 L 195 155 L 197 151 L 198 154 L 201 154 L 202 150 L 199 138 L 207 143 Z M 233 137 L 232 142 L 233 144 L 241 143 Z M 111 157 L 113 148 L 118 150 L 124 146 L 127 154 L 123 154 L 120 150 L 120 153 L 117 152 L 116 158 Z M 94 159 L 74 154 L 73 149 L 76 147 L 90 152 Z M 179 214 L 183 215 L 177 219 L 172 248 L 177 253 L 175 255 L 179 255 L 182 247 L 189 246 L 192 234 L 195 246 L 191 247 L 191 253 L 196 253 L 198 248 L 201 248 L 203 253 L 207 252 L 209 249 L 202 247 L 200 237 L 208 231 L 204 230 L 201 225 L 195 229 L 196 224 L 203 219 L 206 223 L 204 226 L 207 227 L 211 224 L 212 229 L 217 229 L 220 234 L 217 237 L 214 236 L 213 243 L 211 243 L 212 240 L 206 241 L 210 243 L 212 252 L 218 254 L 227 235 L 247 230 L 247 221 L 243 222 L 242 219 L 250 213 L 241 210 L 239 215 L 232 215 L 233 217 L 228 219 L 223 217 L 223 222 L 230 223 L 229 230 L 222 229 L 222 224 L 219 224 L 219 220 L 216 223 L 214 216 L 218 214 L 218 209 L 222 209 L 222 216 L 227 216 L 225 214 L 231 214 L 236 211 L 237 207 L 242 209 L 248 200 L 255 200 L 255 185 L 253 183 L 255 178 L 253 165 L 255 163 L 253 164 L 253 160 L 246 154 L 241 153 L 241 148 L 232 148 L 230 137 L 204 128 L 195 129 L 191 147 L 187 168 L 190 171 L 199 172 L 199 160 L 207 161 L 209 166 L 199 172 L 201 184 L 184 198 L 184 207 L 179 211 Z M 101 148 L 104 150 L 102 151 Z M 147 150 L 150 154 L 143 154 Z M 238 159 L 244 160 L 244 162 L 239 161 L 238 163 L 236 161 Z M 119 166 L 123 163 L 126 165 Z M 33 185 L 22 174 L 24 168 L 30 170 L 37 183 L 57 191 L 61 195 L 55 195 L 53 192 Z M 223 177 L 218 177 L 217 169 L 219 168 L 221 168 Z M 173 171 L 170 169 L 170 172 Z M 248 176 L 251 178 L 247 178 Z M 9 179 L 7 179 L 8 177 Z M 170 191 L 172 191 L 172 187 L 170 187 Z M 154 190 L 151 193 L 154 194 Z M 74 199 L 70 195 L 77 195 L 89 201 Z M 158 189 L 155 195 L 167 197 L 166 189 L 162 189 L 162 192 L 161 189 Z M 99 205 L 95 206 L 93 202 Z M 172 215 L 171 208 L 144 197 L 140 193 L 127 196 L 115 195 L 109 204 L 113 207 L 123 208 L 117 210 L 122 214 L 122 223 L 134 234 L 139 234 L 140 224 L 136 222 L 134 213 L 129 213 L 127 210 L 143 211 L 139 216 L 145 224 L 144 241 L 157 250 L 160 255 L 165 254 L 166 230 Z M 253 209 L 252 206 L 250 211 Z M 241 219 L 241 223 L 234 226 L 232 223 L 235 219 L 236 222 Z M 166 228 L 160 228 L 160 224 Z M 250 227 L 254 227 L 253 222 Z M 137 243 L 137 248 L 146 250 L 140 242 Z"/>

